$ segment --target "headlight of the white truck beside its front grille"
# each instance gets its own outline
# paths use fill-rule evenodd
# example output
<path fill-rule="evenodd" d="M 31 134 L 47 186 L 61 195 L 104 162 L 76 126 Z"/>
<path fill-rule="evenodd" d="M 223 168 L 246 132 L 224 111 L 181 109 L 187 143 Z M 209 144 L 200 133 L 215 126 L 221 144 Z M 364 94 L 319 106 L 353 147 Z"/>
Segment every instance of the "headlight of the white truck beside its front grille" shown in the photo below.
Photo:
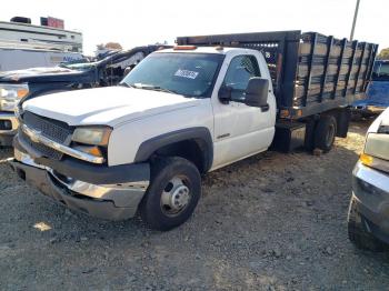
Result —
<path fill-rule="evenodd" d="M 111 131 L 112 129 L 107 127 L 77 128 L 72 140 L 86 144 L 107 146 Z"/>

